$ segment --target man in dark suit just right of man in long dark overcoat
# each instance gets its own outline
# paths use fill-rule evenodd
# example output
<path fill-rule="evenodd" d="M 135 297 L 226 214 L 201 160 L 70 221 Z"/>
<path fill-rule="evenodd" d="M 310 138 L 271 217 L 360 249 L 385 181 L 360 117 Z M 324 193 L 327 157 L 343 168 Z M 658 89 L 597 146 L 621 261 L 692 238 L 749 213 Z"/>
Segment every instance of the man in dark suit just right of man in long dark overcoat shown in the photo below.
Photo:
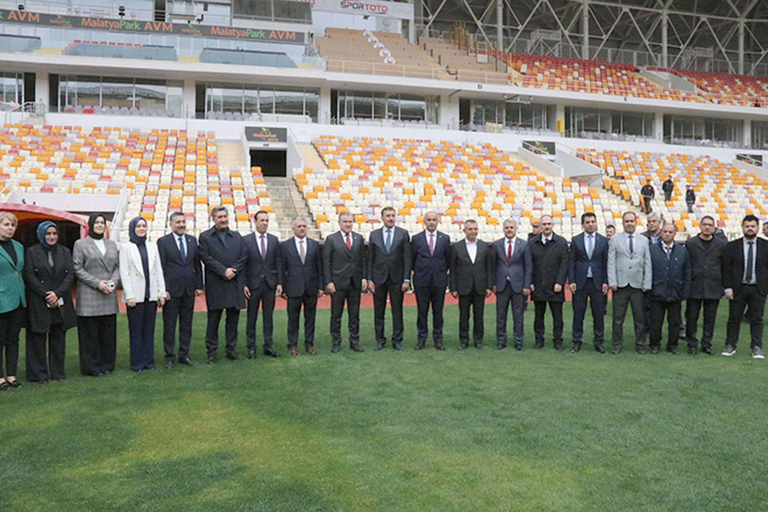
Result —
<path fill-rule="evenodd" d="M 272 348 L 272 313 L 275 310 L 275 296 L 283 294 L 283 276 L 280 275 L 280 240 L 266 233 L 270 227 L 270 214 L 263 210 L 253 215 L 256 232 L 243 236 L 247 253 L 245 287 L 243 292 L 248 300 L 248 323 L 246 343 L 248 358 L 256 358 L 256 322 L 259 319 L 259 304 L 263 312 L 264 355 L 279 358 Z"/>

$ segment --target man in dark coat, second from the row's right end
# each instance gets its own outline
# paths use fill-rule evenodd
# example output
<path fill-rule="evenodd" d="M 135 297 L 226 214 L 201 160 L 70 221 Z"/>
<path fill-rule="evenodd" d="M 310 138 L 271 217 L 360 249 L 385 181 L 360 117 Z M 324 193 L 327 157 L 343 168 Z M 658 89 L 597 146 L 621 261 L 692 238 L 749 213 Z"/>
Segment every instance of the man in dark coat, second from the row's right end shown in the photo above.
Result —
<path fill-rule="evenodd" d="M 709 215 L 701 218 L 699 229 L 701 233 L 689 238 L 685 243 L 691 269 L 690 296 L 685 309 L 686 339 L 688 353 L 695 354 L 698 345 L 696 330 L 699 312 L 703 307 L 701 352 L 711 355 L 717 306 L 723 296 L 723 251 L 728 242 L 720 236 L 714 236 L 715 220 Z"/>

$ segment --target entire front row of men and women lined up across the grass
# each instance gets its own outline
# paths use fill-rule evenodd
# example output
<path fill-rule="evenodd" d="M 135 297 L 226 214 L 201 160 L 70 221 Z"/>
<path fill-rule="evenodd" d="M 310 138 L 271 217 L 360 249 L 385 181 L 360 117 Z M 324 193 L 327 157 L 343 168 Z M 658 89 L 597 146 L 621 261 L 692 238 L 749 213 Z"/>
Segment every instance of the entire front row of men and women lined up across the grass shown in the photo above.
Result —
<path fill-rule="evenodd" d="M 324 248 L 307 236 L 307 222 L 293 220 L 293 236 L 280 240 L 270 233 L 269 215 L 253 216 L 255 230 L 247 236 L 229 229 L 226 207 L 211 212 L 213 226 L 195 239 L 186 233 L 183 213 L 170 216 L 171 233 L 157 243 L 147 239 L 147 222 L 129 223 L 129 241 L 118 246 L 104 235 L 107 221 L 101 213 L 88 219 L 88 235 L 69 249 L 58 243 L 58 226 L 38 225 L 39 243 L 24 251 L 15 240 L 18 220 L 0 212 L 0 391 L 21 387 L 16 378 L 18 337 L 27 327 L 27 378 L 33 382 L 64 380 L 65 334 L 78 326 L 80 369 L 83 375 L 114 371 L 118 286 L 127 306 L 131 369 L 153 369 L 154 325 L 158 306 L 163 314 L 165 367 L 176 362 L 198 365 L 190 358 L 192 318 L 197 296 L 205 293 L 207 362 L 216 362 L 221 317 L 226 311 L 225 354 L 237 354 L 237 325 L 247 309 L 247 357 L 257 357 L 257 322 L 262 314 L 262 351 L 280 357 L 273 342 L 276 297 L 286 300 L 286 338 L 290 355 L 298 355 L 300 315 L 304 314 L 304 348 L 314 348 L 317 300 L 331 296 L 332 352 L 342 345 L 342 318 L 348 315 L 349 348 L 362 352 L 359 307 L 362 292 L 373 296 L 376 350 L 386 348 L 387 303 L 392 315 L 392 348 L 402 350 L 404 294 L 413 289 L 417 304 L 418 334 L 415 348 L 425 348 L 432 311 L 432 341 L 445 349 L 443 307 L 446 288 L 458 299 L 459 348 L 472 343 L 482 348 L 485 339 L 485 299 L 496 296 L 495 348 L 507 346 L 507 319 L 511 310 L 512 341 L 522 350 L 526 306 L 534 302 L 534 348 L 545 345 L 545 313 L 550 309 L 554 348 L 564 350 L 563 302 L 571 292 L 573 326 L 571 352 L 584 341 L 584 319 L 591 309 L 595 350 L 604 346 L 607 296 L 613 296 L 612 352 L 624 346 L 624 319 L 631 307 L 637 352 L 658 353 L 664 317 L 666 349 L 678 354 L 677 340 L 685 312 L 688 352 L 713 353 L 714 322 L 720 299 L 729 300 L 726 347 L 733 355 L 746 309 L 750 322 L 750 348 L 763 358 L 763 309 L 768 296 L 768 241 L 757 238 L 756 216 L 743 218 L 743 237 L 727 242 L 711 216 L 700 221 L 700 233 L 676 243 L 674 223 L 656 213 L 647 216 L 647 231 L 637 233 L 637 214 L 622 216 L 622 233 L 597 232 L 594 213 L 581 216 L 583 233 L 569 244 L 554 233 L 551 216 L 543 215 L 528 239 L 517 236 L 514 219 L 503 223 L 504 236 L 493 243 L 478 238 L 478 223 L 466 220 L 465 238 L 451 243 L 440 232 L 439 214 L 426 213 L 425 230 L 412 238 L 396 226 L 396 211 L 382 208 L 382 227 L 373 230 L 366 246 L 353 232 L 352 213 L 339 214 L 339 231 L 326 238 Z M 765 226 L 765 225 L 764 225 Z M 764 227 L 763 226 L 763 227 Z M 76 301 L 71 286 L 77 282 Z M 702 336 L 697 324 L 703 317 Z M 178 349 L 176 337 L 178 329 Z M 649 341 L 650 339 L 650 341 Z"/>

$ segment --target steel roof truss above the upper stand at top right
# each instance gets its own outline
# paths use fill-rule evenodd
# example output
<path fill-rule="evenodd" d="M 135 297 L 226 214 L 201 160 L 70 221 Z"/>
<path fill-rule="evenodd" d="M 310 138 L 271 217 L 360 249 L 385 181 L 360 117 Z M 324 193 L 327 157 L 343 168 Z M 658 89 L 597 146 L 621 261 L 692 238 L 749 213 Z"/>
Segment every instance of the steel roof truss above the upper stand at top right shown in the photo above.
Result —
<path fill-rule="evenodd" d="M 664 68 L 768 70 L 766 0 L 414 0 L 417 31 L 462 23 L 484 41 L 539 55 Z"/>

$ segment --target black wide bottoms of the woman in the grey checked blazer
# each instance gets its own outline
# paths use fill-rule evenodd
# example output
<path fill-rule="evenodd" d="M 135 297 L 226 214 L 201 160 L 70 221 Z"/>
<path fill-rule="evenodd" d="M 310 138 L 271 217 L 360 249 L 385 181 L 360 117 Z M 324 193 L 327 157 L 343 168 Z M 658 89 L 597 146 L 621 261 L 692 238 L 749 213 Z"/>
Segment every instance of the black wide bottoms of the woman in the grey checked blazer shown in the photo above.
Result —
<path fill-rule="evenodd" d="M 78 316 L 80 372 L 100 375 L 114 371 L 118 315 Z"/>

